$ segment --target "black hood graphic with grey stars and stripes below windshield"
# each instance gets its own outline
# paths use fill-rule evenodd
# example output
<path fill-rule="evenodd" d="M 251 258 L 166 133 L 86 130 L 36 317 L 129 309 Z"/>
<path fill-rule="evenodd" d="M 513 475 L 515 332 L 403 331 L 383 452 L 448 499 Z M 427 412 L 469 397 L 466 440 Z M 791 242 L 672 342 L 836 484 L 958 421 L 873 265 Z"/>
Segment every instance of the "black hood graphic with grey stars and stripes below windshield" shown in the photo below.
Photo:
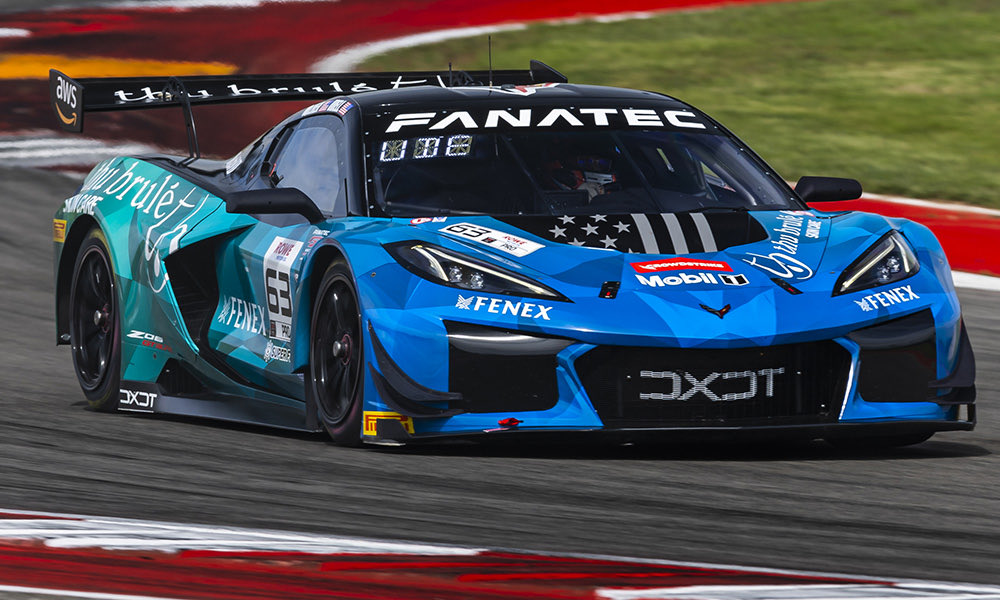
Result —
<path fill-rule="evenodd" d="M 562 215 L 499 217 L 541 238 L 627 253 L 718 252 L 767 239 L 764 227 L 746 212 Z"/>

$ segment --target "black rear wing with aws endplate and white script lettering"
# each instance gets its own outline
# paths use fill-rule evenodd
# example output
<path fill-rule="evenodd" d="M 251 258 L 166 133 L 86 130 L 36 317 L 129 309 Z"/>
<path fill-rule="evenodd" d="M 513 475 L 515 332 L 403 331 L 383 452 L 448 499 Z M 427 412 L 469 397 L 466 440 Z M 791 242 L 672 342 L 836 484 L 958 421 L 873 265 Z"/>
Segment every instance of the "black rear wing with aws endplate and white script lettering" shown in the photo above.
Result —
<path fill-rule="evenodd" d="M 295 75 L 197 75 L 72 79 L 49 71 L 49 98 L 59 126 L 83 131 L 88 112 L 180 106 L 189 129 L 192 106 L 234 102 L 326 100 L 333 96 L 414 85 L 530 85 L 566 83 L 566 77 L 533 60 L 527 70 L 304 73 Z"/>

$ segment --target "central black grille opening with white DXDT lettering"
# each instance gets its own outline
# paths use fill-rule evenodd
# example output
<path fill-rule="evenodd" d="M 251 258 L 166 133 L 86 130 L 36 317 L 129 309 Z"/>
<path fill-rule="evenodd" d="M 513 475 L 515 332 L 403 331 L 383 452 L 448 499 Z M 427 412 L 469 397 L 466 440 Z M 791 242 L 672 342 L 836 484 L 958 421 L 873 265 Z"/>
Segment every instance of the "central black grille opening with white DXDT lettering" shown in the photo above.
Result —
<path fill-rule="evenodd" d="M 833 341 L 760 348 L 602 346 L 575 364 L 608 427 L 830 423 L 850 354 Z"/>

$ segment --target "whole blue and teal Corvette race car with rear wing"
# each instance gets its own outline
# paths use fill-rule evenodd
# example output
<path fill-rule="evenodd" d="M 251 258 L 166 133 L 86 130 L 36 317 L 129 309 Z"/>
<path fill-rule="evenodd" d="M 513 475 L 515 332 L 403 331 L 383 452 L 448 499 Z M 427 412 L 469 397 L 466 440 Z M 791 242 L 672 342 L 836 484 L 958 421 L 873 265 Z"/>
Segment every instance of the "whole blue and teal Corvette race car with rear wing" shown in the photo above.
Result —
<path fill-rule="evenodd" d="M 62 126 L 180 107 L 53 221 L 57 340 L 99 410 L 400 444 L 519 432 L 912 444 L 975 424 L 945 255 L 806 202 L 700 110 L 528 70 L 81 79 Z M 192 107 L 318 101 L 228 161 Z"/>

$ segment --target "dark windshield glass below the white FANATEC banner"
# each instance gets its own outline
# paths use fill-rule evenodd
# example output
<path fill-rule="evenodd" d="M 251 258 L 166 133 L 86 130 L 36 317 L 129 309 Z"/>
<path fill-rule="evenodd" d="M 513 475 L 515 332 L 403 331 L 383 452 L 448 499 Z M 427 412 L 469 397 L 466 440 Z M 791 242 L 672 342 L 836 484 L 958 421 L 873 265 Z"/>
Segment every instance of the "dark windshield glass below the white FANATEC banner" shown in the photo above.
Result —
<path fill-rule="evenodd" d="M 801 208 L 733 139 L 714 133 L 386 136 L 372 150 L 373 191 L 391 216 Z"/>

